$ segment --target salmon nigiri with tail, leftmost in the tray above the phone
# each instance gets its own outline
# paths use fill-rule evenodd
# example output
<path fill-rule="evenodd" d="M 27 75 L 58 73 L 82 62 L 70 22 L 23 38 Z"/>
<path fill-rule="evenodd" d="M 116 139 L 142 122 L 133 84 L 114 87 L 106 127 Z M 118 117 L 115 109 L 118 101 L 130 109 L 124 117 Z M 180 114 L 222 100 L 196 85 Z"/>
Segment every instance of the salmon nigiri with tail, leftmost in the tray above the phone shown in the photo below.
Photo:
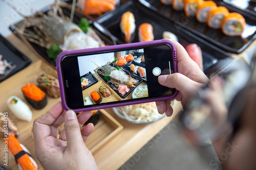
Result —
<path fill-rule="evenodd" d="M 127 11 L 122 14 L 120 28 L 125 36 L 125 42 L 131 42 L 131 36 L 135 31 L 135 18 L 132 12 Z"/>

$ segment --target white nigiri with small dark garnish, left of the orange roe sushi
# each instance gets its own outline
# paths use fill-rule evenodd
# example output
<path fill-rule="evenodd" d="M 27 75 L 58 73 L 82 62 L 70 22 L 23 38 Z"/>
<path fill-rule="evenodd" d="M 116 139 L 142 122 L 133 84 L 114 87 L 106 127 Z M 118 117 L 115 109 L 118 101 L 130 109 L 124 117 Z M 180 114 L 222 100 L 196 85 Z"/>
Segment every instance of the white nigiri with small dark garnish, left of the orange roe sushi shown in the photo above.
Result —
<path fill-rule="evenodd" d="M 16 96 L 11 96 L 7 102 L 7 106 L 11 112 L 20 120 L 26 120 L 28 122 L 32 119 L 32 112 L 29 106 Z"/>

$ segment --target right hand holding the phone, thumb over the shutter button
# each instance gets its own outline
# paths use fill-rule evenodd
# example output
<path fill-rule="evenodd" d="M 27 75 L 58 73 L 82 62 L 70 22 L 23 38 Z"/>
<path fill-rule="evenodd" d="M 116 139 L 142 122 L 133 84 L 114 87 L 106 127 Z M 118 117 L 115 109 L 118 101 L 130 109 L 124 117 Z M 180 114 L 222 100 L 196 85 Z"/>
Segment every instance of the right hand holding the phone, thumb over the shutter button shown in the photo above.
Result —
<path fill-rule="evenodd" d="M 173 41 L 173 43 L 176 46 L 178 73 L 159 76 L 158 82 L 163 86 L 179 90 L 175 99 L 181 101 L 184 107 L 189 97 L 208 82 L 208 78 L 197 63 L 189 57 L 185 48 L 177 41 Z M 202 55 L 200 47 L 196 44 L 195 51 L 190 50 L 189 53 Z M 160 114 L 165 112 L 166 116 L 171 116 L 173 114 L 173 108 L 170 106 L 170 102 L 171 101 L 156 102 L 158 112 Z"/>

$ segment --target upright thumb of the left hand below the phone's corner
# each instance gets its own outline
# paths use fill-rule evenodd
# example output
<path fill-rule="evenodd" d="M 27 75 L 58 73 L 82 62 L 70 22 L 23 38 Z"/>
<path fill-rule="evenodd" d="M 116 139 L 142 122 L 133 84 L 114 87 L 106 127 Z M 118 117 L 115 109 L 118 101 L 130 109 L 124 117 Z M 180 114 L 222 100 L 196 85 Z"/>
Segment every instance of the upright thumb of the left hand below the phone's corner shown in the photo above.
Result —
<path fill-rule="evenodd" d="M 76 113 L 68 110 L 65 114 L 65 132 L 67 138 L 67 149 L 78 149 L 83 143 L 80 127 L 76 117 Z M 78 148 L 76 148 L 78 147 Z"/>

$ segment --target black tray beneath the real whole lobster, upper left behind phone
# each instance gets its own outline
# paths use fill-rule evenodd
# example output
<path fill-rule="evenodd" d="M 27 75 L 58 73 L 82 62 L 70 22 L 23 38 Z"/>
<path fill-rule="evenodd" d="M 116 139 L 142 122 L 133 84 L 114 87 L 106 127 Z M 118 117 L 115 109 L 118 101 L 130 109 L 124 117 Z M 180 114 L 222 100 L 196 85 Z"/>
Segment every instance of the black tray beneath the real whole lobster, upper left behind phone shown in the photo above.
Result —
<path fill-rule="evenodd" d="M 69 3 L 69 4 L 72 3 L 72 1 L 66 1 L 66 2 Z M 44 9 L 40 10 L 40 12 L 42 12 L 42 13 L 47 13 L 47 11 L 48 11 L 50 8 L 51 8 L 51 6 L 49 5 L 49 6 L 45 7 Z M 71 14 L 71 10 L 68 9 L 68 8 L 62 8 L 62 11 L 63 11 L 63 14 L 66 15 L 66 16 L 68 16 L 68 17 L 69 17 L 70 14 Z M 81 16 L 80 14 L 78 14 L 78 13 L 75 12 L 75 13 L 74 13 L 73 22 L 74 22 L 75 24 L 78 24 L 78 23 L 80 22 L 80 19 L 81 19 L 81 18 L 82 18 L 82 16 Z M 22 22 L 22 21 L 23 21 L 23 20 L 21 20 L 21 21 L 15 23 L 14 26 L 17 26 L 18 23 L 20 23 L 20 22 Z M 93 27 L 93 22 L 94 22 L 94 21 L 89 20 L 89 23 L 90 23 L 90 25 L 91 25 L 92 27 Z M 98 26 L 98 27 L 101 27 L 101 26 Z M 17 35 L 18 33 L 15 31 L 14 27 L 13 27 L 13 26 L 10 26 L 9 28 L 10 28 L 10 30 L 19 38 L 19 36 Z M 29 31 L 34 32 L 34 30 L 33 30 L 32 28 L 27 28 L 27 29 L 28 29 Z M 98 29 L 95 29 L 95 28 L 93 28 L 93 30 L 94 30 L 94 31 L 96 32 L 96 34 L 100 37 L 100 39 L 105 42 L 105 44 L 113 45 L 114 42 L 111 40 L 111 38 L 110 38 L 110 36 L 109 36 L 108 34 L 106 34 L 106 33 L 103 34 L 103 33 L 100 32 Z M 101 27 L 100 30 L 104 30 L 104 29 Z M 35 49 L 35 51 L 36 51 L 40 56 L 42 56 L 44 59 L 46 59 L 46 61 L 48 61 L 48 62 L 49 62 L 50 64 L 52 64 L 53 66 L 56 66 L 56 62 L 55 62 L 53 59 L 49 58 L 49 56 L 48 56 L 48 54 L 47 54 L 46 48 L 41 47 L 41 46 L 39 46 L 38 44 L 33 43 L 33 42 L 30 42 L 30 41 L 29 41 L 29 43 L 32 45 L 32 47 Z"/>

